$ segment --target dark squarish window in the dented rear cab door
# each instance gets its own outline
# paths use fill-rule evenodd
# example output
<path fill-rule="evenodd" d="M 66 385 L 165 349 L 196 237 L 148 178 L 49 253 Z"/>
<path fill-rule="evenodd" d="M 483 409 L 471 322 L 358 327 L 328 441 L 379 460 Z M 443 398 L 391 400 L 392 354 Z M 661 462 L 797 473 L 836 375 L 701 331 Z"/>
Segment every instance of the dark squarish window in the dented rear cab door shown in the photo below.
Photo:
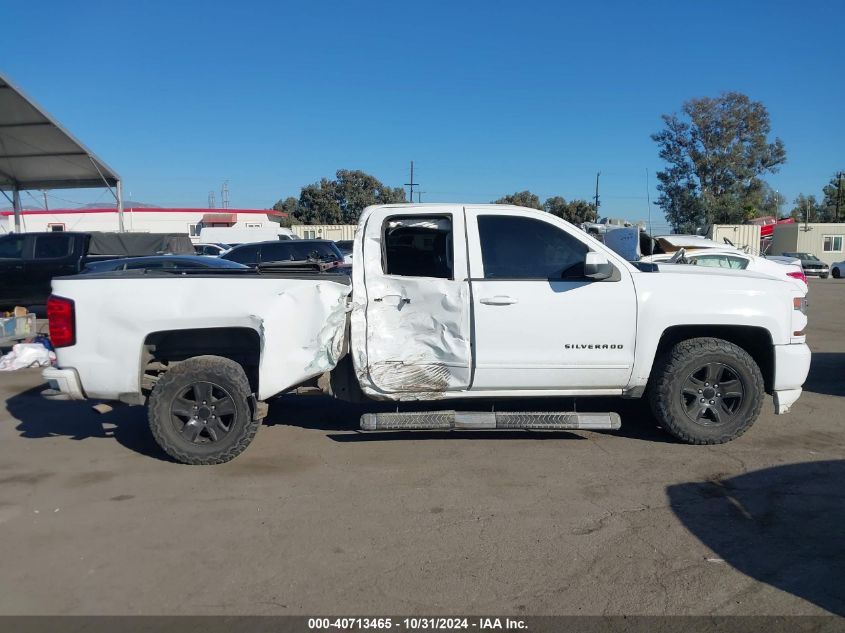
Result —
<path fill-rule="evenodd" d="M 394 216 L 383 231 L 385 274 L 453 278 L 451 217 Z"/>

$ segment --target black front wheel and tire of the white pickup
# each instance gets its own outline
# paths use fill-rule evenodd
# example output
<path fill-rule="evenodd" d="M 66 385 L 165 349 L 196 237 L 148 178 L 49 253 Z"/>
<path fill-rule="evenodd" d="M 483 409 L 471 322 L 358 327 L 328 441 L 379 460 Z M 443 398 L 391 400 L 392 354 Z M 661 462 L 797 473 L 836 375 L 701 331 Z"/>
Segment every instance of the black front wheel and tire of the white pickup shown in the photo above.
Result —
<path fill-rule="evenodd" d="M 718 338 L 681 341 L 654 367 L 649 400 L 660 425 L 688 444 L 724 444 L 745 433 L 763 406 L 763 375 L 742 349 Z M 722 385 L 730 385 L 725 391 Z M 723 393 L 724 391 L 724 393 Z"/>

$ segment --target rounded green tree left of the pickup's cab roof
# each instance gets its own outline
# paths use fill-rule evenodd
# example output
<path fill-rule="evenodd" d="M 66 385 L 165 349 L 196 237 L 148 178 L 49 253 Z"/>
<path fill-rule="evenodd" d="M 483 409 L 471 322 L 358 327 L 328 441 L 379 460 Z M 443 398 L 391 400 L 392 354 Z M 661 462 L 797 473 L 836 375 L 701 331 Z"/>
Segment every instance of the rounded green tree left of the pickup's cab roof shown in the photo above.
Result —
<path fill-rule="evenodd" d="M 372 204 L 405 202 L 402 187 L 388 187 L 360 170 L 339 169 L 335 180 L 302 188 L 293 212 L 302 224 L 356 224 L 361 211 Z"/>

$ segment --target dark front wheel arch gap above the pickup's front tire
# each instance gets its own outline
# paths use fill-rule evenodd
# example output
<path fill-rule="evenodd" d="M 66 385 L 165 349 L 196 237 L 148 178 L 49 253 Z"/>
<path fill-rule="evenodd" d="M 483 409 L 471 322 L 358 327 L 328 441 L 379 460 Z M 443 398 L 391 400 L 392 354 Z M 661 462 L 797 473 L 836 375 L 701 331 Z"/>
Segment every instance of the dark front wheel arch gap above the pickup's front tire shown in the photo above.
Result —
<path fill-rule="evenodd" d="M 775 381 L 775 352 L 772 335 L 763 327 L 751 325 L 676 325 L 666 328 L 657 343 L 655 360 L 672 346 L 691 338 L 719 338 L 744 349 L 763 374 L 766 393 Z"/>

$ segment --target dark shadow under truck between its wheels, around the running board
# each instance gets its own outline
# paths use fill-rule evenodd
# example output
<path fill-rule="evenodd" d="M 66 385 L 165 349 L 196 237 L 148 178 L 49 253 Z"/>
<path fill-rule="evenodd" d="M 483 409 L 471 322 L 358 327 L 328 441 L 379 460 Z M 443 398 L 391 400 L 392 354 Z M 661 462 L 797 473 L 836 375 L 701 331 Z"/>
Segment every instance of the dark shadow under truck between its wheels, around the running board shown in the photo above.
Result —
<path fill-rule="evenodd" d="M 495 406 L 499 411 L 571 411 L 572 398 L 535 398 L 493 402 L 488 400 L 452 400 L 432 403 L 402 403 L 400 411 L 455 409 L 489 411 Z M 610 431 L 613 435 L 648 442 L 674 442 L 656 425 L 643 403 L 623 399 L 579 399 L 578 411 L 617 411 L 622 416 L 622 429 Z M 374 442 L 401 440 L 582 440 L 578 432 L 569 431 L 360 431 L 359 423 L 364 413 L 396 411 L 396 404 L 368 402 L 350 404 L 327 396 L 282 396 L 270 403 L 264 424 L 285 425 L 303 429 L 335 431 L 327 437 L 336 442 Z"/>

